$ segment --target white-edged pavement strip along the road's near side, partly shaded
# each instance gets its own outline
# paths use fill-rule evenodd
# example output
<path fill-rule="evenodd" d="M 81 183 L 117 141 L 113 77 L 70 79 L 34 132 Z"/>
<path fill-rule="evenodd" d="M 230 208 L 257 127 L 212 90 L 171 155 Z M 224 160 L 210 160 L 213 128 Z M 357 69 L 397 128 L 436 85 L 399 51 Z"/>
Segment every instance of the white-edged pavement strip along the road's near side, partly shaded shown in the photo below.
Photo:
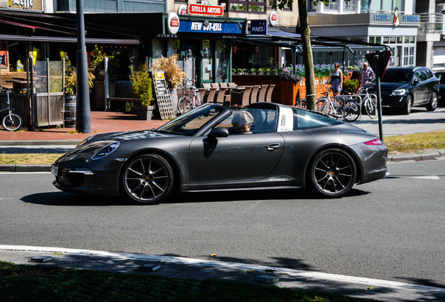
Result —
<path fill-rule="evenodd" d="M 289 268 L 218 261 L 218 257 L 191 259 L 184 257 L 151 256 L 73 250 L 61 247 L 25 247 L 0 245 L 0 260 L 15 264 L 38 264 L 31 261 L 50 257 L 43 265 L 94 271 L 144 273 L 169 278 L 197 280 L 233 280 L 260 282 L 277 287 L 311 289 L 361 299 L 388 302 L 444 301 L 445 289 L 412 285 L 402 282 L 357 278 Z"/>

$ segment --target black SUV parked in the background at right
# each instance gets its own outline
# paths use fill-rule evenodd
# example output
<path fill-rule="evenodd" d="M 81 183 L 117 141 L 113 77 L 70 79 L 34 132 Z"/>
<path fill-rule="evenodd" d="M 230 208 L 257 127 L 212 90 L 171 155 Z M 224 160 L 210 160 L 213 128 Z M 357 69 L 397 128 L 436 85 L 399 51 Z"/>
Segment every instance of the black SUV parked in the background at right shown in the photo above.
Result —
<path fill-rule="evenodd" d="M 406 115 L 411 113 L 413 106 L 425 106 L 428 111 L 437 108 L 439 79 L 428 67 L 389 67 L 380 87 L 381 105 L 400 108 Z M 375 78 L 369 92 L 376 93 Z"/>

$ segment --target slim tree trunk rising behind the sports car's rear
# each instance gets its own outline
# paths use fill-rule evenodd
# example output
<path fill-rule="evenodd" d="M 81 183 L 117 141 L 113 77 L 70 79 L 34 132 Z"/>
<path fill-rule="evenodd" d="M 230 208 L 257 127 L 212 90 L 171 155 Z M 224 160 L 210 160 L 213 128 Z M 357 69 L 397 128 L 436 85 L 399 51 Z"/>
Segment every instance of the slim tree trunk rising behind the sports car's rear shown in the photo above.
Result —
<path fill-rule="evenodd" d="M 299 27 L 302 35 L 304 76 L 306 78 L 306 104 L 309 110 L 315 108 L 316 88 L 313 71 L 313 55 L 311 46 L 311 29 L 307 18 L 306 0 L 298 0 Z"/>

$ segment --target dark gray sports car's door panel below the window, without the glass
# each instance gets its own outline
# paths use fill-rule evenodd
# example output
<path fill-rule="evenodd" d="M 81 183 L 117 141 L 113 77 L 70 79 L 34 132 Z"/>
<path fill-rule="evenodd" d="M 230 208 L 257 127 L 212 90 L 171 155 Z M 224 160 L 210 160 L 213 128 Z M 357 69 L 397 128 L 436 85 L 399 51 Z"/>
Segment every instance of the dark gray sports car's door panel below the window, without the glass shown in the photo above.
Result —
<path fill-rule="evenodd" d="M 278 164 L 284 139 L 280 134 L 231 134 L 190 144 L 190 184 L 252 182 L 265 178 Z"/>

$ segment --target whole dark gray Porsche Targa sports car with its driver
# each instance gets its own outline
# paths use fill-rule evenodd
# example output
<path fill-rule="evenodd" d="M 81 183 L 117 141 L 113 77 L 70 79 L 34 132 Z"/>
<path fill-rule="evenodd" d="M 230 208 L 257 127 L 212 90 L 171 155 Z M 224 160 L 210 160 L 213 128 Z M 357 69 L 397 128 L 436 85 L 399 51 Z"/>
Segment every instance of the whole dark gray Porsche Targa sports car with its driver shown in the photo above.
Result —
<path fill-rule="evenodd" d="M 276 103 L 234 109 L 206 103 L 162 127 L 97 134 L 52 165 L 66 192 L 157 203 L 179 192 L 311 187 L 347 194 L 386 175 L 374 134 Z"/>

